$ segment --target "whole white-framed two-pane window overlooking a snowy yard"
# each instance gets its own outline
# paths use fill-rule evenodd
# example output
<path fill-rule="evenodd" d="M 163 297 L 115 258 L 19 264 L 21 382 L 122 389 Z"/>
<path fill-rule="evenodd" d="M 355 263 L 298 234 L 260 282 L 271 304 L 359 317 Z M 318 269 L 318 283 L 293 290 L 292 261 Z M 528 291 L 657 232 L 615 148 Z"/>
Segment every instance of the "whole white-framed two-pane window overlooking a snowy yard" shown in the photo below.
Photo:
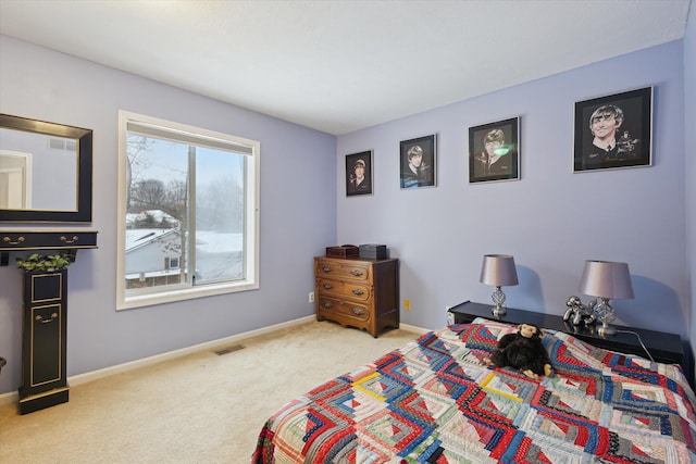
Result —
<path fill-rule="evenodd" d="M 119 120 L 116 308 L 258 288 L 260 143 Z"/>

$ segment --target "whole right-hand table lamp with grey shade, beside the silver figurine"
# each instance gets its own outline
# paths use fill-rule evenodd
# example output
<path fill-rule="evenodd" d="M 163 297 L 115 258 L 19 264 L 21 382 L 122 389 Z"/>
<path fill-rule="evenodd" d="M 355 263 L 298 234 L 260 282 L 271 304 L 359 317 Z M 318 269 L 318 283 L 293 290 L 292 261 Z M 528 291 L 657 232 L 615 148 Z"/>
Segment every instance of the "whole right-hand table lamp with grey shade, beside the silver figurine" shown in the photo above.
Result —
<path fill-rule="evenodd" d="M 597 319 L 601 321 L 597 334 L 602 337 L 614 335 L 617 329 L 609 324 L 616 318 L 616 312 L 609 299 L 633 298 L 629 265 L 611 261 L 585 261 L 579 291 L 601 299 L 601 303 L 594 309 Z"/>

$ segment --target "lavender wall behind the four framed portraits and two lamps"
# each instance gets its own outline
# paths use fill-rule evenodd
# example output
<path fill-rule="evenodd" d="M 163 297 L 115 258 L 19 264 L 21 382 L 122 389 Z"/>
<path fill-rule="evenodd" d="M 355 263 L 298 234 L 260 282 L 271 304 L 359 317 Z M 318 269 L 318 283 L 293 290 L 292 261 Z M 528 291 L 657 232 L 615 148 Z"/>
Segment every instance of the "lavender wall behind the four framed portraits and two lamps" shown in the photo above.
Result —
<path fill-rule="evenodd" d="M 338 241 L 386 243 L 401 260 L 405 323 L 434 328 L 445 306 L 488 302 L 482 255 L 510 253 L 508 303 L 562 314 L 587 259 L 627 262 L 634 300 L 618 323 L 687 338 L 682 41 L 647 49 L 338 138 Z M 693 65 L 693 63 L 692 63 Z M 513 72 L 502 70 L 501 72 Z M 654 165 L 573 174 L 574 102 L 655 86 Z M 405 96 L 408 98 L 408 96 Z M 521 117 L 521 179 L 470 185 L 468 128 Z M 437 133 L 437 187 L 399 189 L 399 141 Z M 374 196 L 346 198 L 344 156 L 374 150 Z M 588 300 L 588 297 L 581 296 Z"/>

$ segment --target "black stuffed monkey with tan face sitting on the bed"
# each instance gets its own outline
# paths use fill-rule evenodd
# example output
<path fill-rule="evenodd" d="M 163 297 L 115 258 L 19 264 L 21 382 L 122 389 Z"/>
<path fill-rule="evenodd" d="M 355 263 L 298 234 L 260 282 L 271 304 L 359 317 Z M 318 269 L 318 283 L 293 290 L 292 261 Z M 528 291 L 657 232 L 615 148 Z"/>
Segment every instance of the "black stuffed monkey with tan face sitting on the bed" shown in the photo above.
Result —
<path fill-rule="evenodd" d="M 484 361 L 498 367 L 511 366 L 530 378 L 551 373 L 551 360 L 542 344 L 544 333 L 534 324 L 520 324 L 514 334 L 504 335 Z"/>

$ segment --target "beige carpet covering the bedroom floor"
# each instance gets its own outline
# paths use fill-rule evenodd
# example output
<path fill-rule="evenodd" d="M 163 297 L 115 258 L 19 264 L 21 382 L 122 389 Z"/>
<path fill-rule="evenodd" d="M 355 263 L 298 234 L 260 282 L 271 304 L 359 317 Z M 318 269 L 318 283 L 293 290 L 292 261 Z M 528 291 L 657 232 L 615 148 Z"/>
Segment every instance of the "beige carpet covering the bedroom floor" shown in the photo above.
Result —
<path fill-rule="evenodd" d="M 309 323 L 82 384 L 32 414 L 3 405 L 0 463 L 249 463 L 275 410 L 418 336 Z"/>

